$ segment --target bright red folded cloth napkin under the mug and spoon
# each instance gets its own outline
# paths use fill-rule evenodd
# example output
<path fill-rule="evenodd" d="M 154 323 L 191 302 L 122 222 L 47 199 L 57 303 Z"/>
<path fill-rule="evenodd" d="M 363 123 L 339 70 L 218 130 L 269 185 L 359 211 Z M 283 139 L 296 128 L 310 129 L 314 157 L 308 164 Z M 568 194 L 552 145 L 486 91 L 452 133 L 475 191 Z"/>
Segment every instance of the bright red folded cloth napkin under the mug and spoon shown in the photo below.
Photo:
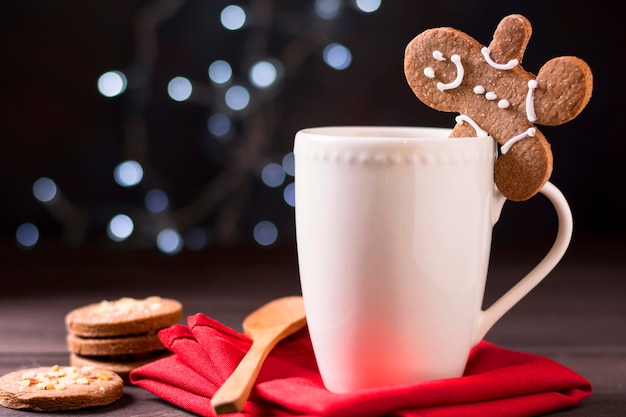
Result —
<path fill-rule="evenodd" d="M 159 337 L 175 354 L 134 370 L 131 382 L 212 416 L 210 398 L 248 351 L 250 339 L 202 314 Z M 305 328 L 270 353 L 240 415 L 523 417 L 573 406 L 590 394 L 591 384 L 570 369 L 488 342 L 474 348 L 461 378 L 335 394 L 324 388 Z"/>

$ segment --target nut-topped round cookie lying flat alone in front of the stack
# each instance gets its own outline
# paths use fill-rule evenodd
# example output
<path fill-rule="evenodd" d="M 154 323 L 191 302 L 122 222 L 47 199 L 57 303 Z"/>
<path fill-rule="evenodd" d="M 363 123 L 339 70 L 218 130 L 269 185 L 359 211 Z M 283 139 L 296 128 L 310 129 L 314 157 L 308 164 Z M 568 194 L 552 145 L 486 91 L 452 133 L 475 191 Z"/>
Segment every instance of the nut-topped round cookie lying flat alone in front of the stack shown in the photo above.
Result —
<path fill-rule="evenodd" d="M 18 410 L 75 410 L 113 403 L 123 388 L 119 375 L 93 367 L 22 369 L 0 378 L 0 404 Z"/>

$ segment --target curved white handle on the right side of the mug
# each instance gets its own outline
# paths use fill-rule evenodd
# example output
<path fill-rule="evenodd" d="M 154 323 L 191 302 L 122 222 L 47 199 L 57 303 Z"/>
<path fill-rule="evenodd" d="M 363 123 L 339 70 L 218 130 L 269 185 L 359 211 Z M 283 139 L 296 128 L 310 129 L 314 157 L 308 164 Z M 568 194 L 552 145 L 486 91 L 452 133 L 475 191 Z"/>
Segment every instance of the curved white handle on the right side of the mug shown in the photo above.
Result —
<path fill-rule="evenodd" d="M 504 293 L 504 295 L 502 295 L 489 308 L 482 310 L 479 313 L 476 331 L 474 332 L 474 345 L 478 344 L 478 342 L 485 337 L 489 329 L 491 329 L 491 327 L 498 320 L 500 320 L 500 318 L 507 311 L 517 304 L 518 301 L 524 298 L 526 294 L 535 288 L 537 284 L 539 284 L 550 273 L 550 271 L 552 271 L 561 258 L 563 258 L 563 255 L 565 255 L 565 251 L 569 246 L 573 231 L 573 220 L 572 212 L 567 204 L 567 200 L 565 200 L 563 193 L 561 193 L 561 191 L 550 182 L 546 182 L 539 192 L 548 197 L 556 210 L 559 222 L 556 240 L 554 241 L 550 251 L 532 271 L 530 271 L 517 284 Z M 502 196 L 499 191 L 497 191 L 496 199 L 498 200 L 497 203 L 500 206 L 499 208 L 502 208 L 506 198 Z M 496 213 L 499 214 L 499 210 L 496 210 Z"/>

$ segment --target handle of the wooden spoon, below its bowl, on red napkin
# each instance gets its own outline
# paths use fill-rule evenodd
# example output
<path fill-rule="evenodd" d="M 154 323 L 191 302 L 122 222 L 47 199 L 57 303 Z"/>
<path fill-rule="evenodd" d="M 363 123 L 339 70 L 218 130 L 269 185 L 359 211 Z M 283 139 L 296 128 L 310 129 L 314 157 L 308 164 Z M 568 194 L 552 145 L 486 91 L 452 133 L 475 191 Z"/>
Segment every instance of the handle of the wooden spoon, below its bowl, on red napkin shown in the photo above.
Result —
<path fill-rule="evenodd" d="M 277 338 L 262 338 L 252 342 L 235 371 L 215 392 L 211 406 L 215 414 L 236 413 L 243 410 L 252 387 L 270 350 L 278 343 Z"/>

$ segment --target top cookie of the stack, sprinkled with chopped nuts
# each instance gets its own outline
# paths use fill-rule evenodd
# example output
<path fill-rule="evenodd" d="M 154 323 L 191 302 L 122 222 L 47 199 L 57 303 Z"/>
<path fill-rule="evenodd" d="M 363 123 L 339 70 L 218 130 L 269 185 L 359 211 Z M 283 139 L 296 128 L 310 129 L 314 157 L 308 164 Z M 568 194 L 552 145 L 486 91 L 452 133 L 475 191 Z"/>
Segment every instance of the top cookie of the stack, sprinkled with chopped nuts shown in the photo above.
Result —
<path fill-rule="evenodd" d="M 123 297 L 74 309 L 65 324 L 70 333 L 84 337 L 136 335 L 176 324 L 182 311 L 181 303 L 172 299 Z"/>

